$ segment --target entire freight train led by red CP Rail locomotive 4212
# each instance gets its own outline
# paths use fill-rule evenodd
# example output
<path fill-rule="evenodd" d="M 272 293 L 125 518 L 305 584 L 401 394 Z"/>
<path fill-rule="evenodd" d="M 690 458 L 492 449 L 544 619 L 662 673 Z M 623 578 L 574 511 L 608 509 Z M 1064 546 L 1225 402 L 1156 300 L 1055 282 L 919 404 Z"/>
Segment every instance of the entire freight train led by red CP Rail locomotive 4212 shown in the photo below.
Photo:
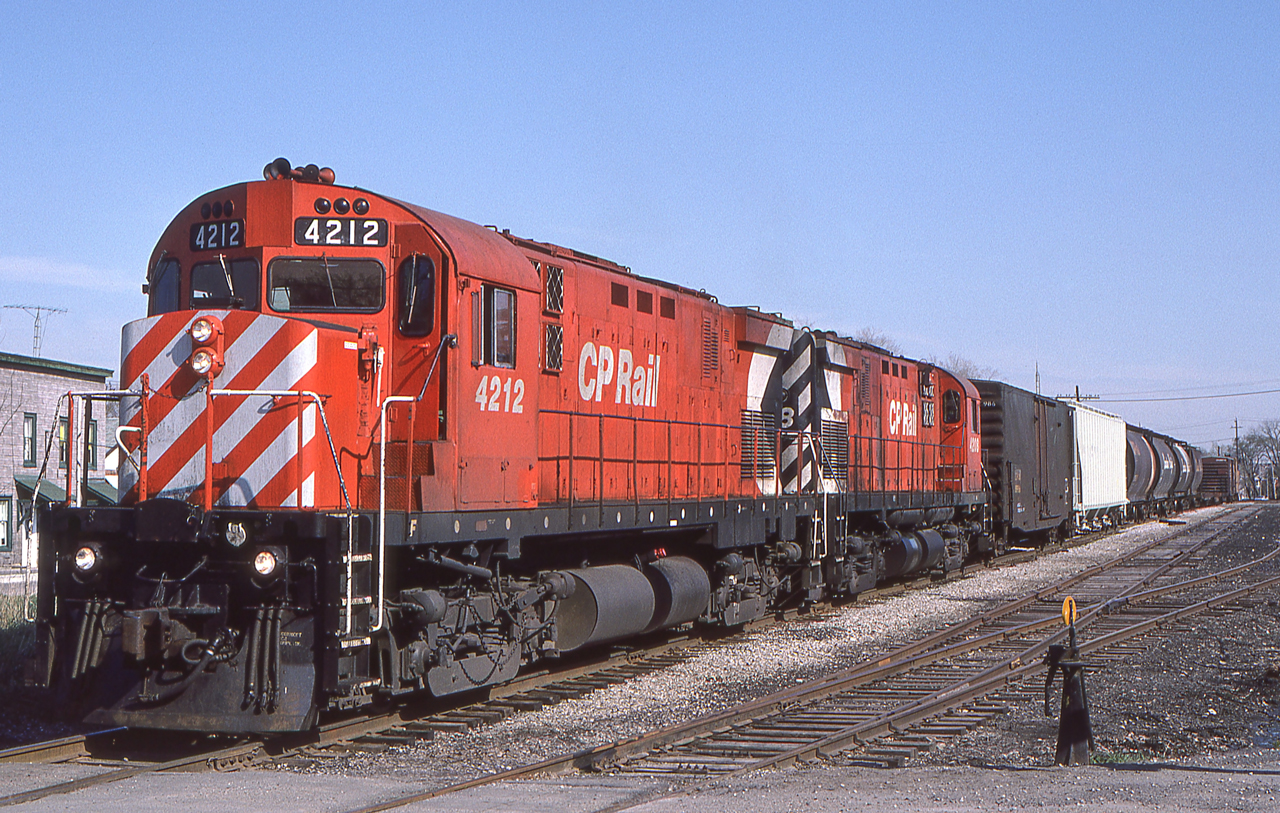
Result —
<path fill-rule="evenodd" d="M 41 516 L 36 681 L 294 731 L 1190 502 L 1198 453 L 288 161 L 124 326 L 122 503 Z M 74 449 L 74 443 L 70 444 Z M 986 458 L 986 465 L 984 465 Z M 1208 471 L 1208 465 L 1204 465 Z"/>

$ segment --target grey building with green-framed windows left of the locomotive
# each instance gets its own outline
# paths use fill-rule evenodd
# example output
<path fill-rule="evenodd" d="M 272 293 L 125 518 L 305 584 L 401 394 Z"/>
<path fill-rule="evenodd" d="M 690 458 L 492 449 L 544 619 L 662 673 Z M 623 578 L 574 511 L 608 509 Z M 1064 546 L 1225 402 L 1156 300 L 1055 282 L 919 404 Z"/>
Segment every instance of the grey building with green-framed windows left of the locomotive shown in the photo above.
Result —
<path fill-rule="evenodd" d="M 31 516 L 37 483 L 41 506 L 67 498 L 63 396 L 110 388 L 111 370 L 0 352 L 0 566 L 36 562 L 37 539 L 31 536 Z M 118 423 L 114 402 L 95 402 L 86 437 L 83 399 L 77 399 L 73 442 L 81 483 L 73 493 L 83 492 L 87 504 L 116 499 Z"/>

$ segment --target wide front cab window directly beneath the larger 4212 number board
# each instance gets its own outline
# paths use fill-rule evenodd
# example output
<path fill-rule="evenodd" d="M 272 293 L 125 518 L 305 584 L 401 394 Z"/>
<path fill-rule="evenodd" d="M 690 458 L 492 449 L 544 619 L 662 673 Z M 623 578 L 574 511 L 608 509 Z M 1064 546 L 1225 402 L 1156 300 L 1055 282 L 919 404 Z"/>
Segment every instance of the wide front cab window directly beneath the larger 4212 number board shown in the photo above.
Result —
<path fill-rule="evenodd" d="M 381 310 L 385 274 L 378 260 L 280 257 L 268 268 L 273 311 L 371 314 Z"/>

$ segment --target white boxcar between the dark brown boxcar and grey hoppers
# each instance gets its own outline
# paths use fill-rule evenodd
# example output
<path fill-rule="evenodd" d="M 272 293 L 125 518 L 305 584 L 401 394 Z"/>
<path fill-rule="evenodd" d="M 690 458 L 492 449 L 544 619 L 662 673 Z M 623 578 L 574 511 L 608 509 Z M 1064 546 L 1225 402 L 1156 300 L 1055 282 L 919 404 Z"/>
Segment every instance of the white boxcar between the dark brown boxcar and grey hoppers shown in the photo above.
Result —
<path fill-rule="evenodd" d="M 1124 419 L 1066 401 L 1075 439 L 1071 502 L 1078 527 L 1097 525 L 1128 504 Z"/>

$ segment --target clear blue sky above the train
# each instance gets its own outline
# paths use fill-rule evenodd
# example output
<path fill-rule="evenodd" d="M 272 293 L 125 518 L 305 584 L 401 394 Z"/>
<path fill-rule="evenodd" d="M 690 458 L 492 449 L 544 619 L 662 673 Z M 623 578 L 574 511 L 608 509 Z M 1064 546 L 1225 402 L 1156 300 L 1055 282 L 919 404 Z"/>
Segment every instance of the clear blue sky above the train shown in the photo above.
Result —
<path fill-rule="evenodd" d="M 116 367 L 168 221 L 283 155 L 1050 394 L 1280 389 L 1280 5 L 12 3 L 0 31 L 0 303 L 68 309 L 47 357 Z M 1280 417 L 1100 406 L 1194 443 Z"/>

